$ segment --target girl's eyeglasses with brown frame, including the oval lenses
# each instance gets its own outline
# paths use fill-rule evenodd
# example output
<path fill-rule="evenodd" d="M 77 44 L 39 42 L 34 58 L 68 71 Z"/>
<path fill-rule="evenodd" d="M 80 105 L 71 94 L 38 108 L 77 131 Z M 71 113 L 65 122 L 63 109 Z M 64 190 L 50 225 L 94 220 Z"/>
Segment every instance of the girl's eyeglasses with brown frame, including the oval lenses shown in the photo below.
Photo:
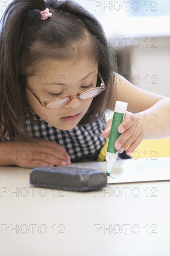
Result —
<path fill-rule="evenodd" d="M 25 81 L 23 82 L 26 84 L 26 87 L 31 91 L 31 93 L 35 96 L 35 98 L 39 101 L 42 107 L 45 107 L 48 109 L 54 109 L 54 108 L 63 107 L 64 105 L 66 105 L 68 102 L 70 102 L 72 99 L 75 99 L 75 98 L 78 98 L 79 100 L 89 100 L 91 98 L 98 96 L 98 94 L 100 94 L 105 90 L 105 83 L 99 71 L 98 71 L 98 75 L 101 81 L 101 84 L 99 87 L 85 90 L 76 95 L 61 97 L 59 99 L 53 99 L 51 101 L 44 101 L 40 99 L 39 96 L 33 91 L 33 89 Z"/>

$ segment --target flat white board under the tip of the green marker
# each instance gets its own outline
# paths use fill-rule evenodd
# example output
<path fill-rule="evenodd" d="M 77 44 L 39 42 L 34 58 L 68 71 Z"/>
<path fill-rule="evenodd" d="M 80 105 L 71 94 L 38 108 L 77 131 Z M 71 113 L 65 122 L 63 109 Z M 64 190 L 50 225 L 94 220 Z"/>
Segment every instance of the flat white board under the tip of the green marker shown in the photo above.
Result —
<path fill-rule="evenodd" d="M 105 172 L 107 162 L 72 163 L 78 168 L 91 168 Z M 170 180 L 170 158 L 157 159 L 124 159 L 113 164 L 111 176 L 107 177 L 109 184 L 129 182 L 152 182 Z"/>

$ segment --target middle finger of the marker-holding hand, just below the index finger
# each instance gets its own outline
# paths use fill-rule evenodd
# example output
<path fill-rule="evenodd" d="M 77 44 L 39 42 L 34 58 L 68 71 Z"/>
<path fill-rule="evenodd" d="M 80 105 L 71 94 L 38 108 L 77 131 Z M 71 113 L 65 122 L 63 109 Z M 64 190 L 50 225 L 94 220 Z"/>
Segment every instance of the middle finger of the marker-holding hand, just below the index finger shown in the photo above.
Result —
<path fill-rule="evenodd" d="M 135 125 L 132 125 L 128 130 L 126 130 L 123 134 L 121 134 L 118 139 L 115 141 L 114 147 L 121 152 L 124 151 L 124 143 L 133 135 L 135 131 Z"/>

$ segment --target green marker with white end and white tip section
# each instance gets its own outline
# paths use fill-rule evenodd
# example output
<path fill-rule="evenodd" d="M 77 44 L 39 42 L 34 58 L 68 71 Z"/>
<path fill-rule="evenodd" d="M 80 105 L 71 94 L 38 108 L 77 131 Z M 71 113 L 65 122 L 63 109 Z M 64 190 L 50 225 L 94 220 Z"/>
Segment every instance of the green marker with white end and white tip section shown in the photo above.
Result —
<path fill-rule="evenodd" d="M 110 176 L 113 163 L 116 161 L 118 156 L 118 151 L 114 147 L 114 145 L 118 137 L 121 135 L 118 132 L 118 127 L 124 119 L 124 114 L 126 113 L 127 105 L 128 103 L 123 101 L 116 101 L 116 104 L 115 104 L 115 110 L 114 110 L 114 115 L 113 115 L 112 124 L 111 124 L 111 132 L 109 136 L 109 142 L 108 142 L 106 158 L 105 158 L 107 161 L 106 174 L 108 176 Z"/>

